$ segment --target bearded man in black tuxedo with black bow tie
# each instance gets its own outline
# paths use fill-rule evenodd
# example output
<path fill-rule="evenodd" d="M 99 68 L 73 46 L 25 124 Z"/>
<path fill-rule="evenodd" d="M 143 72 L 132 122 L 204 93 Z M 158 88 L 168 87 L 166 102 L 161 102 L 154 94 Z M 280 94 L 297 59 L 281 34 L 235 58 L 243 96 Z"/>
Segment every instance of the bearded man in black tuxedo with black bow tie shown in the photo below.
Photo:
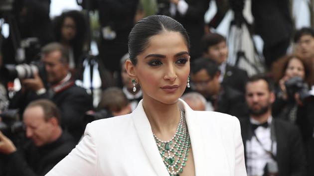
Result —
<path fill-rule="evenodd" d="M 250 115 L 240 124 L 248 176 L 304 176 L 306 162 L 300 131 L 272 117 L 275 94 L 269 79 L 251 77 L 245 97 Z"/>

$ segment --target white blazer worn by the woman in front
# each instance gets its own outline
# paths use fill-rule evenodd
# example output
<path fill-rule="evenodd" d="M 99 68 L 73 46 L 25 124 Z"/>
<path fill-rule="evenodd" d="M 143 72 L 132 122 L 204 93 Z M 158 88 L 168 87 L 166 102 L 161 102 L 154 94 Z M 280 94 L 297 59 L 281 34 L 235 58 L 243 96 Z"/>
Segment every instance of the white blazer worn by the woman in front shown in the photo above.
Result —
<path fill-rule="evenodd" d="M 46 176 L 169 176 L 142 103 L 131 114 L 88 124 L 82 141 Z M 246 176 L 239 120 L 179 104 L 196 176 Z"/>

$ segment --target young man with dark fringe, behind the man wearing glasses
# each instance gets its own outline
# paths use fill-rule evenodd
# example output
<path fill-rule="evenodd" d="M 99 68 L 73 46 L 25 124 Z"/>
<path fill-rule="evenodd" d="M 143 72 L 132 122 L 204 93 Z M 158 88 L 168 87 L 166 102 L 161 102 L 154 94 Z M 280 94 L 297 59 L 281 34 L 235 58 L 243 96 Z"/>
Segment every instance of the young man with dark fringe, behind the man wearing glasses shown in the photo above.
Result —
<path fill-rule="evenodd" d="M 218 63 L 221 72 L 219 82 L 244 93 L 248 79 L 246 71 L 227 64 L 228 48 L 225 37 L 217 33 L 206 34 L 202 37 L 203 57 Z"/>

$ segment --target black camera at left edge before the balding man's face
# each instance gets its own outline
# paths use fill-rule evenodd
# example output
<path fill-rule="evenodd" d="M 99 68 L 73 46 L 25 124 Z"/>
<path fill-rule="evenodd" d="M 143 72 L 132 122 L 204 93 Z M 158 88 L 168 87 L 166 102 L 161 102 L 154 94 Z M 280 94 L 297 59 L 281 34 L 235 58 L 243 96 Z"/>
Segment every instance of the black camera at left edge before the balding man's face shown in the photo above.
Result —
<path fill-rule="evenodd" d="M 18 109 L 8 109 L 0 113 L 0 131 L 6 135 L 11 136 L 24 131 L 24 125 L 19 120 Z"/>

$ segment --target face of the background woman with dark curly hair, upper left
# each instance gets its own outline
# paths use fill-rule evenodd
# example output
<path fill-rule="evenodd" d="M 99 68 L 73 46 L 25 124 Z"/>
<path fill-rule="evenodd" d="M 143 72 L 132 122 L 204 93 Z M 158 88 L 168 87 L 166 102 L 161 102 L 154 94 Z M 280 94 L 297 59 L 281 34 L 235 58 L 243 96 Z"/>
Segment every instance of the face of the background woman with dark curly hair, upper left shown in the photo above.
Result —
<path fill-rule="evenodd" d="M 72 40 L 76 35 L 75 21 L 71 17 L 65 17 L 61 28 L 62 39 L 65 41 Z"/>

